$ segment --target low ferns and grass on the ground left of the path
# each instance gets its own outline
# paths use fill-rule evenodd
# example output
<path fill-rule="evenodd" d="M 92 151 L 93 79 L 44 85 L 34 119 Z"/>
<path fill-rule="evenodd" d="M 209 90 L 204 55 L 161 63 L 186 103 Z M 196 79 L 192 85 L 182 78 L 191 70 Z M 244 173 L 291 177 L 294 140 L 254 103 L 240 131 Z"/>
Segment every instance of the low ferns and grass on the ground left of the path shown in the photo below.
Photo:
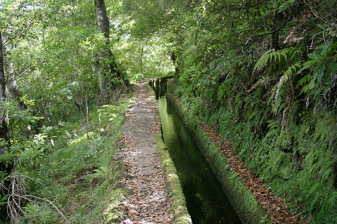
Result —
<path fill-rule="evenodd" d="M 119 127 L 129 102 L 105 105 L 91 111 L 89 136 L 80 122 L 59 122 L 43 128 L 45 157 L 25 171 L 31 195 L 50 200 L 70 223 L 119 223 L 122 174 L 112 159 L 119 147 Z M 72 120 L 82 121 L 81 117 Z M 111 209 L 113 208 L 113 209 Z M 27 203 L 23 223 L 66 223 L 48 203 Z"/>

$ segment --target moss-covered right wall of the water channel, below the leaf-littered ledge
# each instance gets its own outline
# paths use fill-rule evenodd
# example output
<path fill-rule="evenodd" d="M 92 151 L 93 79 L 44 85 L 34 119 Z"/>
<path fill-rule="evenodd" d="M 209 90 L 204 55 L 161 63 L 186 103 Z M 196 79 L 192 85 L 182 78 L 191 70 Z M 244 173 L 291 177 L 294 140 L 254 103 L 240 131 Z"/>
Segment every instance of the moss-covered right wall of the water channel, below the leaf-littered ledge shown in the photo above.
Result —
<path fill-rule="evenodd" d="M 173 95 L 175 89 L 175 86 L 169 82 L 167 83 L 166 99 L 176 109 L 199 147 L 202 149 L 242 222 L 245 224 L 271 223 L 269 219 L 263 219 L 266 217 L 267 212 L 257 204 L 253 194 L 247 190 L 238 175 L 231 170 L 229 165 L 225 162 L 225 159 L 222 158 L 222 154 L 216 150 L 217 147 L 198 125 L 198 121 L 201 120 L 201 118 L 192 114 L 188 108 Z"/>

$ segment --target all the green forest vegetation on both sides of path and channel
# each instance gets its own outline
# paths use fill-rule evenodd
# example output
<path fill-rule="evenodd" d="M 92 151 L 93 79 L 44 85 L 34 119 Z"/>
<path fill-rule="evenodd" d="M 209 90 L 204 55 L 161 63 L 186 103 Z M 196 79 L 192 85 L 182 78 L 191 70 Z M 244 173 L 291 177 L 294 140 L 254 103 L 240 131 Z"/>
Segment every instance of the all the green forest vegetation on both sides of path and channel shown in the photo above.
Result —
<path fill-rule="evenodd" d="M 76 217 L 104 206 L 76 203 L 97 204 L 118 173 L 101 158 L 118 142 L 121 96 L 174 70 L 177 94 L 303 221 L 337 222 L 336 0 L 106 0 L 109 35 L 101 2 L 0 3 L 0 205 L 12 222 L 62 223 L 57 205 L 95 223 Z"/>

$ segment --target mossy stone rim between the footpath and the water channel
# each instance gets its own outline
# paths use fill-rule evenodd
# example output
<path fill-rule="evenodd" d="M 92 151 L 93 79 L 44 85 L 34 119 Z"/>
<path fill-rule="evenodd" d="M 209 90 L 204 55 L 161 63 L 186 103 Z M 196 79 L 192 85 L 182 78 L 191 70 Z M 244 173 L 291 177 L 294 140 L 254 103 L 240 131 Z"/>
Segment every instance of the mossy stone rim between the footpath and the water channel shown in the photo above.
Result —
<path fill-rule="evenodd" d="M 145 87 L 147 88 L 150 97 L 154 97 L 155 93 L 152 87 L 149 85 L 149 82 L 146 82 Z M 159 111 L 157 114 L 157 119 L 159 118 Z M 170 154 L 167 151 L 166 145 L 162 140 L 160 134 L 155 134 L 159 158 L 161 160 L 161 165 L 163 166 L 164 176 L 166 178 L 166 190 L 168 192 L 169 200 L 172 202 L 170 208 L 170 215 L 172 214 L 171 223 L 172 224 L 191 224 L 191 217 L 188 214 L 186 207 L 186 198 L 183 194 L 183 189 L 181 183 L 178 179 L 177 170 L 174 166 L 174 163 L 170 157 Z"/>

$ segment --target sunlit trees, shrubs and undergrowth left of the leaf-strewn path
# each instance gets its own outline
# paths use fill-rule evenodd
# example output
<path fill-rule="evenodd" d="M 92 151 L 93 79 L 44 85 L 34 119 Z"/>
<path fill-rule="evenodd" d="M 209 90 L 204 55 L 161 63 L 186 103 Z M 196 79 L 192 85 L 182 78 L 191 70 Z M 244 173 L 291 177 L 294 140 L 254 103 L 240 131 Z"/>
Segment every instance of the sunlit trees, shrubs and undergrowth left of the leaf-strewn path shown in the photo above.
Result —
<path fill-rule="evenodd" d="M 2 220 L 120 221 L 112 154 L 128 89 L 174 67 L 158 38 L 131 36 L 122 2 L 102 4 L 0 3 Z"/>

